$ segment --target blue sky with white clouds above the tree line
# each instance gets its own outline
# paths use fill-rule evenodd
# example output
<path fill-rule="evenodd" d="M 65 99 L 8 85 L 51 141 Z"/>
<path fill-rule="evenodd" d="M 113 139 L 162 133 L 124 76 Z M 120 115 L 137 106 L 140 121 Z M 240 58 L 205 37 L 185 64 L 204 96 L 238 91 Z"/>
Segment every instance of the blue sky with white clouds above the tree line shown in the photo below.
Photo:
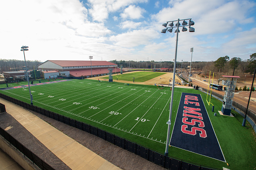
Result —
<path fill-rule="evenodd" d="M 256 53 L 256 2 L 224 0 L 13 0 L 0 2 L 1 59 L 173 61 L 167 21 L 190 19 L 177 61 L 249 59 Z M 180 29 L 182 30 L 182 29 Z"/>

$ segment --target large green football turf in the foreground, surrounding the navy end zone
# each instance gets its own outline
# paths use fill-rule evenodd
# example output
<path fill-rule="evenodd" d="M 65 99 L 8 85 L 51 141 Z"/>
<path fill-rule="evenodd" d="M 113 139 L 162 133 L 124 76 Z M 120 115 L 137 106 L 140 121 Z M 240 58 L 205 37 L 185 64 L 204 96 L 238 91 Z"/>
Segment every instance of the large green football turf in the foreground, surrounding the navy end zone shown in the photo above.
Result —
<path fill-rule="evenodd" d="M 28 88 L 0 92 L 30 103 Z M 169 156 L 216 168 L 253 169 L 256 143 L 251 127 L 242 127 L 242 117 L 237 113 L 235 117 L 218 113 L 214 116 L 212 106 L 206 102 L 206 94 L 199 90 L 175 88 L 171 132 L 182 92 L 201 94 L 229 166 L 226 162 L 176 147 L 169 147 Z M 84 79 L 31 86 L 31 93 L 36 106 L 89 123 L 164 154 L 169 87 Z M 221 110 L 220 101 L 212 98 L 211 103 L 215 112 Z"/>

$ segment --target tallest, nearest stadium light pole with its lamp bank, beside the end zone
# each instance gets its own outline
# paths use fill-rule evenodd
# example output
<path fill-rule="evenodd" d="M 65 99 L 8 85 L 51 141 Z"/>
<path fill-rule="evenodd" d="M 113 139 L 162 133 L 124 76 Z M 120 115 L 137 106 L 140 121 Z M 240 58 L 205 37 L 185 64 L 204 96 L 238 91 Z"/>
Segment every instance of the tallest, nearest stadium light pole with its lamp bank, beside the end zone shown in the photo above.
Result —
<path fill-rule="evenodd" d="M 189 24 L 186 22 L 186 20 L 189 20 Z M 176 20 L 176 21 L 168 21 L 164 24 L 162 24 L 163 27 L 166 27 L 166 29 L 163 29 L 161 33 L 166 33 L 166 31 L 172 33 L 173 29 L 177 27 L 177 30 L 175 33 L 177 33 L 176 36 L 176 49 L 175 49 L 175 60 L 174 60 L 174 76 L 173 76 L 173 85 L 172 85 L 172 96 L 170 98 L 170 113 L 169 113 L 169 120 L 166 124 L 168 124 L 168 130 L 167 130 L 167 139 L 166 139 L 166 147 L 165 147 L 165 155 L 168 155 L 168 147 L 169 147 L 169 139 L 170 139 L 170 124 L 172 123 L 172 112 L 173 112 L 173 101 L 174 101 L 174 84 L 175 84 L 175 72 L 176 72 L 176 60 L 177 60 L 177 48 L 178 48 L 178 36 L 179 36 L 179 27 L 180 27 L 180 21 L 183 21 L 182 23 L 182 31 L 185 32 L 188 29 L 186 27 L 189 27 L 189 32 L 195 32 L 195 29 L 191 26 L 193 26 L 195 23 L 191 21 L 191 19 L 185 19 L 185 20 Z M 176 26 L 174 26 L 174 22 L 177 22 Z M 167 27 L 167 24 L 169 23 L 169 27 Z M 167 30 L 168 29 L 168 30 Z"/>

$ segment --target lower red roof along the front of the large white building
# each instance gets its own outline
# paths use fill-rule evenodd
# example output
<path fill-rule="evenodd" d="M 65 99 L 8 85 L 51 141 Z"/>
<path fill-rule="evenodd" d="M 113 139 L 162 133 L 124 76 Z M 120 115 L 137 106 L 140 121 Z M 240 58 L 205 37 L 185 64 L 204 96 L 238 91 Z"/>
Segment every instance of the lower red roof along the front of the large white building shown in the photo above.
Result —
<path fill-rule="evenodd" d="M 120 69 L 113 68 L 113 74 L 115 74 L 115 72 L 120 72 Z M 92 74 L 93 75 L 106 74 L 106 73 L 109 73 L 108 68 L 92 69 Z M 86 69 L 86 70 L 70 70 L 69 74 L 74 76 L 74 77 L 90 76 L 91 75 L 91 69 Z"/>

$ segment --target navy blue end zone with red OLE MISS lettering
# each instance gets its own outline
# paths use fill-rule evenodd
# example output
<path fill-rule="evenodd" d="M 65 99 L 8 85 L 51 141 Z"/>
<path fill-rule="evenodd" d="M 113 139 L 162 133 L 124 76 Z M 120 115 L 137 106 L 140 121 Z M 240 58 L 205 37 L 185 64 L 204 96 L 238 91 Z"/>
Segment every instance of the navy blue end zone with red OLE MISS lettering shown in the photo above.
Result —
<path fill-rule="evenodd" d="M 225 161 L 200 94 L 182 93 L 170 145 Z"/>

